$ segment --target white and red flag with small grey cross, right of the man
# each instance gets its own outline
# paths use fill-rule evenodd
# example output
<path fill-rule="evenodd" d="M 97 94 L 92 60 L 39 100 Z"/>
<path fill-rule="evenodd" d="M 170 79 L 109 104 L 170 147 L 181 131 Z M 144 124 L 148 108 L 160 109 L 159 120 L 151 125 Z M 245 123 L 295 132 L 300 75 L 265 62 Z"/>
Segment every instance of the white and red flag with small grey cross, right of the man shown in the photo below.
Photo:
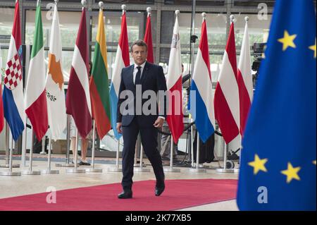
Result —
<path fill-rule="evenodd" d="M 172 45 L 170 47 L 170 60 L 168 62 L 167 89 L 168 89 L 168 116 L 167 123 L 173 140 L 178 143 L 182 130 L 184 129 L 182 114 L 182 61 L 180 56 L 180 28 L 178 25 L 178 14 L 173 30 Z"/>

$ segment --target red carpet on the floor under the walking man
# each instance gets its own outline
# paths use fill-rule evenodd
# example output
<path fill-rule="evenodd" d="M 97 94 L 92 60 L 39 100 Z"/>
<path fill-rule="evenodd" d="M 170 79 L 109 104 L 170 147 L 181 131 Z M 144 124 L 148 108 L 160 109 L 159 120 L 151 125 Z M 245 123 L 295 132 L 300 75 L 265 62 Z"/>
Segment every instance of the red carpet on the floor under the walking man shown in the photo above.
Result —
<path fill-rule="evenodd" d="M 133 183 L 133 198 L 119 200 L 120 183 L 58 190 L 56 203 L 46 203 L 49 193 L 0 199 L 0 210 L 19 211 L 166 211 L 235 199 L 237 180 L 166 180 L 166 190 L 156 197 L 155 181 Z"/>

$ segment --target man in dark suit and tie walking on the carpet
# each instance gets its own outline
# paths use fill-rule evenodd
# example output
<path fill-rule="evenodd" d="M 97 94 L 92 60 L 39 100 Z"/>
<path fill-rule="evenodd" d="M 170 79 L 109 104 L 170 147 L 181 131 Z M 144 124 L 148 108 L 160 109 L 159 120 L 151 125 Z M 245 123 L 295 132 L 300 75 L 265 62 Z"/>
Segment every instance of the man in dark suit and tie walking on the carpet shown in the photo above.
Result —
<path fill-rule="evenodd" d="M 165 176 L 161 155 L 157 149 L 157 128 L 163 126 L 166 118 L 166 102 L 159 99 L 160 106 L 163 103 L 163 107 L 159 110 L 157 98 L 153 95 L 145 95 L 147 98 L 143 98 L 143 94 L 166 91 L 166 79 L 161 66 L 146 61 L 147 44 L 145 42 L 137 40 L 130 50 L 135 64 L 123 68 L 121 72 L 117 111 L 117 130 L 123 134 L 124 142 L 121 183 L 123 192 L 118 195 L 118 198 L 132 197 L 133 164 L 138 133 L 141 135 L 144 152 L 153 166 L 156 176 L 155 195 L 159 196 L 165 189 Z M 132 99 L 127 94 L 128 92 L 133 93 Z M 150 105 L 144 104 L 149 101 L 151 101 Z"/>

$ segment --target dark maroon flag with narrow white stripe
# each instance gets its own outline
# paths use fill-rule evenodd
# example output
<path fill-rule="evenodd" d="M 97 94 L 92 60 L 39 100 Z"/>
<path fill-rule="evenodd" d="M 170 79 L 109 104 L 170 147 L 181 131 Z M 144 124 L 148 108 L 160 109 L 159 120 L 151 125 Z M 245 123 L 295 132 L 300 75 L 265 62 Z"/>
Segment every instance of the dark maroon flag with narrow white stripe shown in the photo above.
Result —
<path fill-rule="evenodd" d="M 73 116 L 78 133 L 82 138 L 86 138 L 92 130 L 87 41 L 86 8 L 82 7 L 82 18 L 77 34 L 66 96 L 66 113 Z"/>

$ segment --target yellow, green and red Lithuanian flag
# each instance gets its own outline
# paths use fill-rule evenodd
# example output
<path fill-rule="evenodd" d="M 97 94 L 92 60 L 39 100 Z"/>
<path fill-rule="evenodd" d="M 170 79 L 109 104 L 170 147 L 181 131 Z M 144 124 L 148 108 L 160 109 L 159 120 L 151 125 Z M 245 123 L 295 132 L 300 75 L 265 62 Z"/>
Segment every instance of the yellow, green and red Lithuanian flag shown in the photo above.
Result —
<path fill-rule="evenodd" d="M 92 63 L 89 91 L 92 99 L 92 117 L 96 121 L 97 133 L 101 140 L 111 129 L 107 47 L 102 8 L 99 11 L 98 32 L 94 47 L 94 61 Z"/>

